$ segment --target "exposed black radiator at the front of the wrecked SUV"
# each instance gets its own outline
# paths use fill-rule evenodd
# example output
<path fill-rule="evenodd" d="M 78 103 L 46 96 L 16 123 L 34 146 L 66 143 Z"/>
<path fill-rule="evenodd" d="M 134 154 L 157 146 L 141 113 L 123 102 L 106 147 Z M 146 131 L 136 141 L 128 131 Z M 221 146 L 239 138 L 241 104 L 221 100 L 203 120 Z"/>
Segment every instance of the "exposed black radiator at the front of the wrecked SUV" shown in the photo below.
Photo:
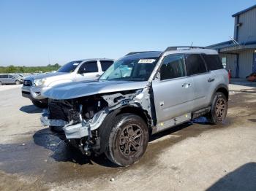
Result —
<path fill-rule="evenodd" d="M 67 103 L 51 101 L 49 103 L 49 120 L 79 121 L 79 113 Z"/>

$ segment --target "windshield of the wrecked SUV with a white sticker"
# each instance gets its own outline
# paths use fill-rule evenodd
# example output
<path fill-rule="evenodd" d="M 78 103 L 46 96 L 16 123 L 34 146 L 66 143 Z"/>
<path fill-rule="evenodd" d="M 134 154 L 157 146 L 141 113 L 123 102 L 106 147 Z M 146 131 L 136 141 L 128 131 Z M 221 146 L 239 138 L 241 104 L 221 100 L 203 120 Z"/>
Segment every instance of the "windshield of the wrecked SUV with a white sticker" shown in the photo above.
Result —
<path fill-rule="evenodd" d="M 156 63 L 157 58 L 121 58 L 114 62 L 99 80 L 146 81 Z"/>

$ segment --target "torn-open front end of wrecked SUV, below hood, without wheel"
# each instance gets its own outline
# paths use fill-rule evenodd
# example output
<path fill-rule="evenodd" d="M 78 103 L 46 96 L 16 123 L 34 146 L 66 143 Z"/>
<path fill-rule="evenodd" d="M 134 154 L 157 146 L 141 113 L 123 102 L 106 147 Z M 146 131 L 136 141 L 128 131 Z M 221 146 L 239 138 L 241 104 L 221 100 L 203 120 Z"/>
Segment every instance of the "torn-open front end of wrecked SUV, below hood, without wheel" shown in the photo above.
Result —
<path fill-rule="evenodd" d="M 123 108 L 128 111 L 129 108 L 140 109 L 145 114 L 148 125 L 154 123 L 150 87 L 68 100 L 50 99 L 48 111 L 42 114 L 41 122 L 45 126 L 62 128 L 67 141 L 78 147 L 83 154 L 99 154 L 103 150 L 100 127 L 104 125 L 108 114 L 120 112 Z"/>

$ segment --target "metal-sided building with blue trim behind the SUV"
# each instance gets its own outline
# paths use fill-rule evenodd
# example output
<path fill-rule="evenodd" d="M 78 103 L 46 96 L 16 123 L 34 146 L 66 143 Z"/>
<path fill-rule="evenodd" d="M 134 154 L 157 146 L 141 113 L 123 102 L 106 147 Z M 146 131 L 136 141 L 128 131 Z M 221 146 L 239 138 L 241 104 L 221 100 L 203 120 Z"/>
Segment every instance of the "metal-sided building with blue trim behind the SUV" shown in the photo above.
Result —
<path fill-rule="evenodd" d="M 208 47 L 218 50 L 232 77 L 244 78 L 256 72 L 256 4 L 232 17 L 235 17 L 233 38 Z"/>

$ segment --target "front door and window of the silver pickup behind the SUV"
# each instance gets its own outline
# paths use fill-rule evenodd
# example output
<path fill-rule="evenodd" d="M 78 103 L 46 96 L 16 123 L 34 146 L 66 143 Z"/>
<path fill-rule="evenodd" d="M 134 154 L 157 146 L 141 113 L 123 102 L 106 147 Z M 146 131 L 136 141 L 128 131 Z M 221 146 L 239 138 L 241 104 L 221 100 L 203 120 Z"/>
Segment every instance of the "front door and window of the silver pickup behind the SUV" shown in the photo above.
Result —
<path fill-rule="evenodd" d="M 83 63 L 78 69 L 76 81 L 94 80 L 99 78 L 99 69 L 97 61 Z"/>

